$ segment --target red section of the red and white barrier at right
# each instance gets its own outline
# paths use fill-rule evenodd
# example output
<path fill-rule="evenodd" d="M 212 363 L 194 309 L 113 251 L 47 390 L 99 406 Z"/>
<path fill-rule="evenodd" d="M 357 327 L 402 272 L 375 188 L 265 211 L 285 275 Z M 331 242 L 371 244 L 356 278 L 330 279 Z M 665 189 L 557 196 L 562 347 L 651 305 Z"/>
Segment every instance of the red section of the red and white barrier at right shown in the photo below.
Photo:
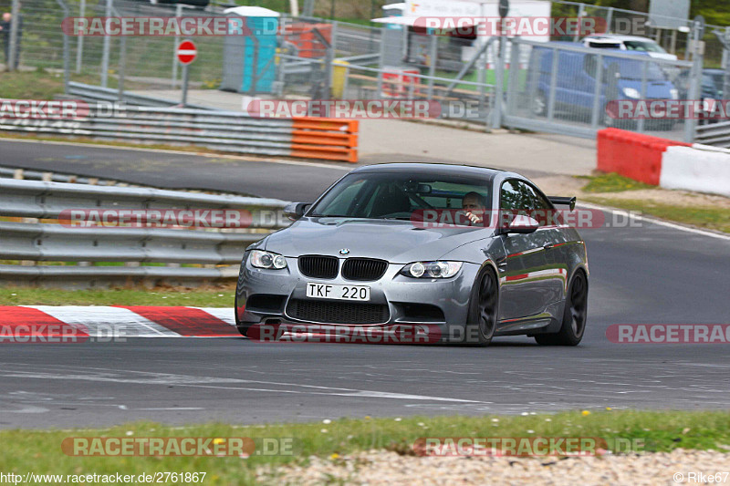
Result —
<path fill-rule="evenodd" d="M 659 185 L 662 153 L 671 145 L 691 147 L 681 141 L 660 139 L 622 129 L 598 132 L 598 164 L 603 172 L 618 172 L 624 177 L 646 184 Z"/>

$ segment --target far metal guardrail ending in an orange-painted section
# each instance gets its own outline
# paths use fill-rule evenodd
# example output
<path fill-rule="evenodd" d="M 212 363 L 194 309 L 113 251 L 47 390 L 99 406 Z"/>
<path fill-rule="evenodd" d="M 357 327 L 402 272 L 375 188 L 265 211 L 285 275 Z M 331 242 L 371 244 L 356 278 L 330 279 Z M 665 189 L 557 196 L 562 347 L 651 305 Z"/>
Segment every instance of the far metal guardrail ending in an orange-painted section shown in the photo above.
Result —
<path fill-rule="evenodd" d="M 193 144 L 213 150 L 318 160 L 358 160 L 358 122 L 255 118 L 237 111 L 125 107 L 108 115 L 90 107 L 74 119 L 6 119 L 0 129 L 133 143 Z M 107 107 L 105 107 L 107 108 Z"/>

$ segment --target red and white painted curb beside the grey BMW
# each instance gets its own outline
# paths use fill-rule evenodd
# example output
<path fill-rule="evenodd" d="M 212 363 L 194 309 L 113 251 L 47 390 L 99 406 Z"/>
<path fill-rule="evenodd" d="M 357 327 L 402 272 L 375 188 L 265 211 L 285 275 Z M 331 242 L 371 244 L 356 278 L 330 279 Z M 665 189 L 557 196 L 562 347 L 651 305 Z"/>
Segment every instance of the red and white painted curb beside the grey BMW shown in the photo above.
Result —
<path fill-rule="evenodd" d="M 233 307 L 0 306 L 0 328 L 6 334 L 52 333 L 68 326 L 89 337 L 109 336 L 110 331 L 129 337 L 241 336 L 235 329 Z"/>

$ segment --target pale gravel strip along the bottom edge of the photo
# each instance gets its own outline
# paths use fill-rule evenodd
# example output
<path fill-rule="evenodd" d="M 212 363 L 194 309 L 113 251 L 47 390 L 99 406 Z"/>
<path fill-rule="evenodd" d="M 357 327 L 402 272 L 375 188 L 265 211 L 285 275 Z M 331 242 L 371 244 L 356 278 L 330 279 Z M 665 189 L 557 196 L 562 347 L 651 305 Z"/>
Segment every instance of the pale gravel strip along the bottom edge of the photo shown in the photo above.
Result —
<path fill-rule="evenodd" d="M 510 485 L 677 485 L 697 484 L 698 473 L 720 473 L 730 485 L 730 454 L 714 450 L 673 450 L 632 455 L 570 458 L 414 457 L 386 450 L 348 456 L 310 457 L 308 465 L 256 470 L 258 481 L 276 484 L 510 484 Z M 674 476 L 675 474 L 682 474 Z M 695 476 L 692 476 L 694 473 Z M 680 480 L 680 481 L 676 481 Z"/>

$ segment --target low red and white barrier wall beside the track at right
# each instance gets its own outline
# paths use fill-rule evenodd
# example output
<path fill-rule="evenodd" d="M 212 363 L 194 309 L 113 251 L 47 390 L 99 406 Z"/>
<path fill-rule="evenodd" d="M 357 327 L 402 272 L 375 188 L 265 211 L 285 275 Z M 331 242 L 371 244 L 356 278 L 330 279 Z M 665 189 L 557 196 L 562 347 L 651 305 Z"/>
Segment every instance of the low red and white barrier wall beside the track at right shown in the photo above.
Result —
<path fill-rule="evenodd" d="M 730 150 L 602 129 L 597 169 L 666 189 L 730 197 Z"/>

